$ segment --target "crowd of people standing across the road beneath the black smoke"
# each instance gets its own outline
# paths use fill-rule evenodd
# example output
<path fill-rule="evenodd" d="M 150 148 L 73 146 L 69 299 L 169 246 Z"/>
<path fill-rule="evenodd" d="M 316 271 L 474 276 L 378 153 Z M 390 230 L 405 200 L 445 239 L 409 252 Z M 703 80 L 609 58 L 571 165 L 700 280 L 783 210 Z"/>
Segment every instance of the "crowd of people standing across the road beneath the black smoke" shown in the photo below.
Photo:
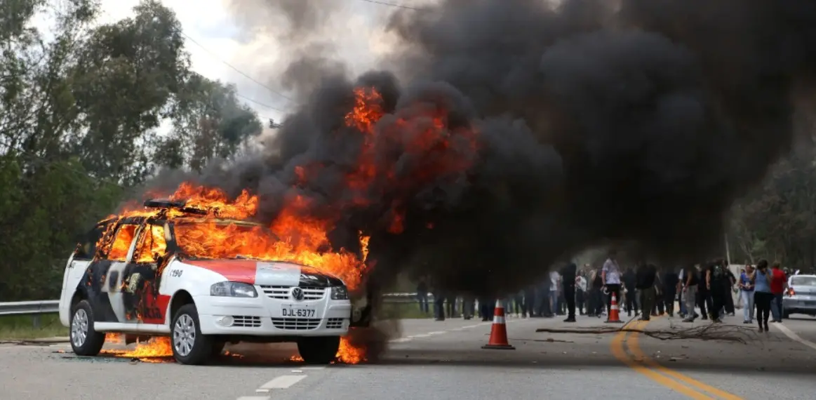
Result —
<path fill-rule="evenodd" d="M 601 268 L 585 264 L 578 269 L 574 263 L 559 271 L 551 271 L 539 285 L 526 287 L 508 295 L 505 313 L 521 318 L 555 318 L 565 315 L 564 322 L 575 322 L 578 315 L 601 318 L 610 315 L 612 297 L 622 313 L 648 321 L 651 317 L 678 314 L 684 322 L 709 319 L 718 323 L 725 315 L 735 315 L 733 294 L 743 304 L 743 323 L 752 323 L 755 316 L 760 331 L 768 331 L 768 322 L 782 322 L 782 297 L 787 290 L 788 271 L 780 264 L 769 266 L 760 260 L 756 266 L 745 265 L 739 277 L 729 269 L 725 259 L 704 264 L 687 265 L 681 269 L 659 269 L 654 264 L 640 262 L 635 268 L 622 269 L 616 251 L 610 251 Z M 422 281 L 417 287 L 419 307 L 430 314 L 428 286 Z M 433 316 L 465 319 L 477 315 L 490 321 L 494 300 L 433 293 Z M 700 310 L 697 313 L 697 309 Z M 478 313 L 477 313 L 478 311 Z"/>

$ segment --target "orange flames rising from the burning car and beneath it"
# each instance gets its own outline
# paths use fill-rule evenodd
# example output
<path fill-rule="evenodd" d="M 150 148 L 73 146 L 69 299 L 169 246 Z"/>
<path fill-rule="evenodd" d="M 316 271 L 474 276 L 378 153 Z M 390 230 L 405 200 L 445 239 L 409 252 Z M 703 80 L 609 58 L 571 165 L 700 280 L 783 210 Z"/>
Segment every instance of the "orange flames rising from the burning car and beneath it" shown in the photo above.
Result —
<path fill-rule="evenodd" d="M 446 176 L 465 171 L 472 165 L 477 149 L 476 134 L 468 127 L 449 127 L 445 109 L 420 104 L 401 110 L 388 124 L 378 124 L 386 113 L 383 96 L 370 87 L 357 88 L 353 95 L 354 106 L 345 116 L 344 122 L 347 127 L 359 131 L 363 137 L 357 165 L 345 175 L 345 188 L 353 192 L 351 202 L 341 204 L 341 207 L 366 206 L 368 199 L 376 198 L 379 194 L 370 193 L 381 189 L 375 184 L 378 180 L 386 180 L 388 189 L 410 193 L 421 185 L 445 179 Z M 411 165 L 419 167 L 415 167 L 415 171 L 397 168 L 397 159 L 383 158 L 376 153 L 375 144 L 379 141 L 399 145 L 401 151 L 412 158 Z M 308 183 L 308 179 L 321 168 L 322 165 L 319 164 L 296 166 L 297 183 Z M 304 264 L 343 279 L 352 293 L 361 287 L 366 269 L 373 264 L 373 260 L 366 263 L 369 237 L 362 234 L 359 237 L 360 254 L 345 249 L 328 251 L 331 247 L 327 233 L 335 227 L 338 220 L 310 216 L 307 212 L 311 206 L 310 199 L 301 195 L 286 198 L 282 211 L 268 227 L 246 222 L 255 216 L 259 206 L 259 198 L 246 190 L 237 198 L 229 198 L 220 189 L 184 183 L 169 199 L 184 202 L 185 209 L 195 209 L 198 215 L 191 216 L 184 209 L 157 210 L 131 205 L 119 216 L 111 218 L 160 214 L 161 219 L 184 217 L 175 224 L 175 238 L 188 256 L 240 256 Z M 390 233 L 401 233 L 406 224 L 405 208 L 406 204 L 393 201 L 388 220 L 383 221 L 383 229 Z M 341 213 L 335 214 L 335 218 L 341 217 Z M 430 221 L 424 224 L 428 228 L 433 226 Z M 103 235 L 97 246 L 109 249 L 109 257 L 124 260 L 136 234 L 140 235 L 134 256 L 136 260 L 157 260 L 158 256 L 166 252 L 162 226 L 151 226 L 141 233 L 136 232 L 135 226 L 124 226 L 118 232 L 109 230 L 111 231 Z M 132 352 L 121 354 L 126 357 L 164 357 L 171 353 L 169 340 L 157 338 L 147 344 L 139 344 Z M 365 361 L 365 353 L 365 349 L 356 347 L 356 344 L 351 344 L 344 338 L 337 359 L 339 362 L 362 362 Z"/>

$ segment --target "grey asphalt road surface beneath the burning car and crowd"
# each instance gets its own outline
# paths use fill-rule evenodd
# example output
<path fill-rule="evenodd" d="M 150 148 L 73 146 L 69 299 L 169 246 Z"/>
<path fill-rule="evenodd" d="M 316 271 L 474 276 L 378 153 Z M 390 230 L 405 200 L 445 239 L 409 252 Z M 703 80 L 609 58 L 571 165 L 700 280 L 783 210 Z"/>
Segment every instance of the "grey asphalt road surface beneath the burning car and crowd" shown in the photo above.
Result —
<path fill-rule="evenodd" d="M 111 356 L 78 358 L 66 344 L 0 346 L 0 398 L 60 400 L 332 400 L 816 398 L 816 318 L 744 330 L 747 344 L 658 340 L 641 333 L 537 333 L 536 328 L 603 327 L 597 318 L 508 317 L 515 350 L 481 349 L 490 323 L 405 320 L 376 364 L 307 367 L 293 345 L 238 345 L 206 367 Z M 631 322 L 667 331 L 679 318 Z M 738 329 L 729 327 L 726 329 Z M 722 329 L 722 328 L 721 328 Z M 242 357 L 234 355 L 240 354 Z"/>

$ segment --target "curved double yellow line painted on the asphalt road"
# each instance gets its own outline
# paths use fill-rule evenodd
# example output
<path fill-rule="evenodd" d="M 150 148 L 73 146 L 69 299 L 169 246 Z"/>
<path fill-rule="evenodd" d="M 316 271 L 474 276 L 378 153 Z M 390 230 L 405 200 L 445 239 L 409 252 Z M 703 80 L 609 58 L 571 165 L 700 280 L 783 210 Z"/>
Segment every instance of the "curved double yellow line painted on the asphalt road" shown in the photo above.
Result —
<path fill-rule="evenodd" d="M 628 323 L 626 326 L 632 327 L 632 329 L 643 329 L 648 324 L 649 321 L 638 321 Z M 743 400 L 743 398 L 740 398 L 732 393 L 725 392 L 721 389 L 716 389 L 709 384 L 704 384 L 699 380 L 695 380 L 677 371 L 672 371 L 667 367 L 663 367 L 658 362 L 647 357 L 643 353 L 638 344 L 639 335 L 640 334 L 637 332 L 627 331 L 620 331 L 615 334 L 615 336 L 612 338 L 612 343 L 610 344 L 614 357 L 618 358 L 620 362 L 623 362 L 633 370 L 640 372 L 650 380 L 663 384 L 663 386 L 675 390 L 676 392 L 683 393 L 690 398 L 698 400 L 714 400 L 716 398 Z M 627 345 L 629 353 L 632 353 L 631 357 L 624 348 L 624 346 Z"/>

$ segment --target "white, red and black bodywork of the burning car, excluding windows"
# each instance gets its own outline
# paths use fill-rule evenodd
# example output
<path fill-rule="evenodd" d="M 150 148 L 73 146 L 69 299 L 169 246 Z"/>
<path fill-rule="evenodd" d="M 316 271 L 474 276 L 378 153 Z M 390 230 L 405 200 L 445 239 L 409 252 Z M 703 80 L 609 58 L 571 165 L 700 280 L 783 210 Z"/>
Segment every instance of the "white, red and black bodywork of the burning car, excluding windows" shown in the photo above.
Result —
<path fill-rule="evenodd" d="M 112 223 L 117 224 L 114 234 L 122 226 L 137 225 L 127 228 L 135 233 L 123 260 L 108 260 L 98 251 L 83 253 L 81 244 L 65 269 L 60 322 L 71 327 L 75 353 L 98 353 L 98 349 L 85 350 L 80 339 L 104 337 L 104 332 L 175 337 L 175 313 L 185 304 L 193 304 L 197 313 L 196 317 L 190 313 L 191 319 L 197 319 L 195 333 L 222 347 L 226 342 L 298 341 L 304 337 L 332 338 L 339 343 L 339 336 L 348 332 L 352 304 L 339 278 L 299 264 L 192 259 L 173 251 L 168 251 L 166 259 L 140 263 L 135 252 L 143 236 L 154 232 L 151 229 L 158 224 L 163 232 L 172 232 L 172 224 L 144 218 Z M 110 229 L 97 226 L 97 232 L 105 230 Z M 167 242 L 174 240 L 173 234 L 164 236 Z M 97 242 L 101 241 L 91 235 L 86 246 L 95 247 Z M 225 293 L 214 292 L 214 285 Z M 249 296 L 250 288 L 255 296 Z M 243 296 L 237 296 L 238 292 Z M 82 300 L 87 302 L 85 311 L 80 311 Z M 78 313 L 90 321 L 86 325 L 92 325 L 84 328 L 85 336 Z M 78 322 L 72 323 L 75 318 Z"/>

